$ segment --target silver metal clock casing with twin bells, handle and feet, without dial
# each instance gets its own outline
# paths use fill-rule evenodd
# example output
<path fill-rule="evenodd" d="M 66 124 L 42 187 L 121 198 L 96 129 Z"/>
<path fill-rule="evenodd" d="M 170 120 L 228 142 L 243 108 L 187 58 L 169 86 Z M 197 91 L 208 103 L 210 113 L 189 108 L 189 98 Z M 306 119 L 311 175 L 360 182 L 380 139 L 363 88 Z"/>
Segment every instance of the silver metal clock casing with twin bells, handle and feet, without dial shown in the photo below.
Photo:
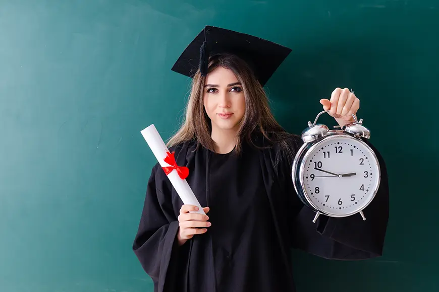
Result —
<path fill-rule="evenodd" d="M 292 179 L 294 188 L 296 190 L 297 195 L 299 198 L 305 203 L 305 205 L 308 205 L 313 211 L 316 212 L 315 217 L 312 222 L 316 222 L 319 215 L 326 215 L 330 217 L 347 217 L 351 216 L 356 213 L 360 213 L 363 220 L 366 220 L 366 217 L 364 216 L 363 210 L 372 202 L 372 200 L 375 198 L 375 195 L 378 191 L 380 182 L 381 182 L 381 169 L 380 165 L 377 159 L 376 154 L 374 151 L 365 143 L 361 138 L 369 138 L 370 132 L 367 128 L 365 128 L 362 125 L 362 119 L 360 121 L 357 121 L 356 117 L 353 115 L 355 122 L 347 124 L 343 127 L 343 129 L 334 129 L 329 130 L 327 126 L 322 124 L 316 124 L 317 118 L 327 111 L 320 112 L 314 123 L 311 124 L 311 122 L 308 122 L 308 127 L 302 132 L 302 140 L 304 143 L 298 150 L 292 165 Z M 373 161 L 376 162 L 377 168 L 378 168 L 378 174 L 377 174 L 377 183 L 372 191 L 372 196 L 370 197 L 369 201 L 364 204 L 360 209 L 357 209 L 355 211 L 346 213 L 346 214 L 334 214 L 331 212 L 325 212 L 322 209 L 318 208 L 316 205 L 314 205 L 310 199 L 309 194 L 305 191 L 305 182 L 303 181 L 303 172 L 305 169 L 305 161 L 307 161 L 309 155 L 313 153 L 313 151 L 319 147 L 323 142 L 327 142 L 328 140 L 337 139 L 339 137 L 347 138 L 347 139 L 353 139 L 356 142 L 361 143 L 365 148 L 370 151 Z"/>

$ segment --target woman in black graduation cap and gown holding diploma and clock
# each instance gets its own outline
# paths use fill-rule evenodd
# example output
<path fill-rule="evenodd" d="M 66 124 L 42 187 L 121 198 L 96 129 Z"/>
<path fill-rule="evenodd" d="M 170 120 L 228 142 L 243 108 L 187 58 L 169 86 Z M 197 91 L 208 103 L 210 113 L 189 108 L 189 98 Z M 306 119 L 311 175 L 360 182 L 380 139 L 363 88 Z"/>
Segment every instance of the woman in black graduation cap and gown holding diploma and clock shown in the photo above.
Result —
<path fill-rule="evenodd" d="M 302 141 L 276 122 L 263 90 L 289 49 L 206 27 L 173 70 L 192 77 L 188 64 L 201 44 L 186 121 L 169 147 L 189 168 L 187 181 L 206 215 L 183 205 L 160 165 L 153 167 L 133 249 L 154 291 L 295 291 L 290 248 L 328 259 L 380 256 L 388 182 L 376 149 L 382 177 L 367 220 L 320 216 L 312 223 L 314 212 L 291 179 Z M 320 102 L 340 126 L 359 108 L 346 89 Z"/>

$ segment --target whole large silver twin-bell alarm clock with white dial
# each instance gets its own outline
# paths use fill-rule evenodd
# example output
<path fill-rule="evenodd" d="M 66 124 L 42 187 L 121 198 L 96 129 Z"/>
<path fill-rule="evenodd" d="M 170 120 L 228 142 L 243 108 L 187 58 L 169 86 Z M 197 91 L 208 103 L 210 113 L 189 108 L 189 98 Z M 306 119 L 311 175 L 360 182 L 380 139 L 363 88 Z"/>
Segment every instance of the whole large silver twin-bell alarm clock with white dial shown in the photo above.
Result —
<path fill-rule="evenodd" d="M 380 183 L 379 163 L 364 139 L 370 131 L 355 122 L 340 129 L 314 123 L 301 134 L 304 143 L 292 166 L 292 179 L 301 201 L 315 211 L 313 222 L 323 214 L 346 217 L 359 213 L 373 200 Z"/>

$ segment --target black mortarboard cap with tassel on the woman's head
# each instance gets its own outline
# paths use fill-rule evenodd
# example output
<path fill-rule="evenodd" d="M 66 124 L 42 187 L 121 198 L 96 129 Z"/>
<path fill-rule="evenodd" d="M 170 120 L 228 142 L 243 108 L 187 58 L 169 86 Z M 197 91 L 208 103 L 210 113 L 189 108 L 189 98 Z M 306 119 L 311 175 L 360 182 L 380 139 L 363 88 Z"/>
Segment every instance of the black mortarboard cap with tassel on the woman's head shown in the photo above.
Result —
<path fill-rule="evenodd" d="M 205 76 L 209 56 L 231 53 L 246 61 L 264 86 L 290 52 L 290 48 L 252 35 L 206 26 L 186 47 L 172 70 L 192 78 L 200 68 Z"/>

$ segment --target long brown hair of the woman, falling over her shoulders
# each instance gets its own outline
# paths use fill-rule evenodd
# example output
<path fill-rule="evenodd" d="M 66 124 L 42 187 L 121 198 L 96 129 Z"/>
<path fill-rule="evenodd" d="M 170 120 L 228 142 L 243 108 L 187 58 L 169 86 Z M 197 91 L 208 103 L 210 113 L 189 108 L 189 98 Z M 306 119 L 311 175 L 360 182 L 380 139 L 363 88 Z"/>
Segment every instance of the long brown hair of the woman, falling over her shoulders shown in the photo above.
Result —
<path fill-rule="evenodd" d="M 210 57 L 208 72 L 219 66 L 234 72 L 243 87 L 245 96 L 245 114 L 240 122 L 235 152 L 240 153 L 244 140 L 255 145 L 252 140 L 255 133 L 260 133 L 266 140 L 273 143 L 280 142 L 288 152 L 288 142 L 285 139 L 291 137 L 292 134 L 287 133 L 273 117 L 265 91 L 250 66 L 236 55 L 218 54 Z M 214 152 L 215 142 L 210 136 L 211 122 L 203 106 L 205 79 L 198 70 L 192 81 L 185 120 L 168 141 L 168 146 L 178 145 L 188 140 L 197 140 L 203 147 Z"/>

